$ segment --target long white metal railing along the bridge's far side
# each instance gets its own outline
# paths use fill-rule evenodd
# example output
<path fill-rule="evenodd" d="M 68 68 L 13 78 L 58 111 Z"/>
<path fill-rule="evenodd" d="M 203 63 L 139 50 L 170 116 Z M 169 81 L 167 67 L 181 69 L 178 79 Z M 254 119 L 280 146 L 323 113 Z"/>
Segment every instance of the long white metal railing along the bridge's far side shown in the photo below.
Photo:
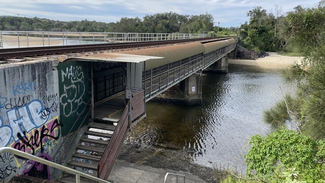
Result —
<path fill-rule="evenodd" d="M 0 30 L 0 48 L 212 37 L 211 33 L 55 32 Z"/>

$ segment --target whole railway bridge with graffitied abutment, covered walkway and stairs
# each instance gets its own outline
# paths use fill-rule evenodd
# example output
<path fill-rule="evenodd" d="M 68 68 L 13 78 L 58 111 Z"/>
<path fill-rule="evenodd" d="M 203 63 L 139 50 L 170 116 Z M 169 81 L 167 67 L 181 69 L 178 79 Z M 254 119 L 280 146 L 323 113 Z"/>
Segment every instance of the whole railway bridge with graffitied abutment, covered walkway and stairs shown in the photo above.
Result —
<path fill-rule="evenodd" d="M 182 37 L 0 49 L 0 147 L 107 179 L 127 132 L 146 116 L 145 102 L 177 87 L 167 99 L 200 104 L 202 71 L 227 72 L 234 38 Z M 15 173 L 35 175 L 33 162 L 18 162 Z M 43 169 L 35 176 L 75 179 Z"/>

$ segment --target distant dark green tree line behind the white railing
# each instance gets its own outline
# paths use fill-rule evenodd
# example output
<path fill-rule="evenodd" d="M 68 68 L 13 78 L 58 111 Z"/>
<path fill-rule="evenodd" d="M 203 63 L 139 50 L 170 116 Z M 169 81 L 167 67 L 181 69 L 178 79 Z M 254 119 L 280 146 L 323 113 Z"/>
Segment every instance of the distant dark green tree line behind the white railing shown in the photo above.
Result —
<path fill-rule="evenodd" d="M 20 31 L 81 31 L 81 32 L 155 32 L 201 33 L 213 31 L 213 17 L 209 13 L 182 15 L 174 12 L 146 15 L 142 19 L 122 17 L 116 22 L 89 20 L 58 21 L 46 18 L 0 16 L 0 30 Z"/>

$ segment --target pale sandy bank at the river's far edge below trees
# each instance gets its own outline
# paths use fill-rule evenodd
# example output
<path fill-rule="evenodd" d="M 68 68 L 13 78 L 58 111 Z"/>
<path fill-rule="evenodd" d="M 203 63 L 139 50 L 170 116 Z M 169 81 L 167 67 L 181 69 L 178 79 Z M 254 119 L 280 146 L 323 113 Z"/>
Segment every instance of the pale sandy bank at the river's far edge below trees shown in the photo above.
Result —
<path fill-rule="evenodd" d="M 284 68 L 290 64 L 300 63 L 301 57 L 299 56 L 283 56 L 276 52 L 269 52 L 269 56 L 258 58 L 256 60 L 250 59 L 229 59 L 229 64 L 252 65 L 263 68 Z"/>

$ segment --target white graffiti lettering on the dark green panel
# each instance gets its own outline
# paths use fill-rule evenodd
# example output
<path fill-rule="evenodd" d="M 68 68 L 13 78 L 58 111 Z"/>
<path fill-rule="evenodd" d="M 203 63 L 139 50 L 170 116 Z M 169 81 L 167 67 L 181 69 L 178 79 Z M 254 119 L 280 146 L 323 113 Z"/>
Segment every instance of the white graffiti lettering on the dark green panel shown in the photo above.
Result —
<path fill-rule="evenodd" d="M 81 66 L 66 67 L 66 70 L 61 70 L 63 93 L 60 96 L 62 110 L 64 116 L 79 115 L 80 108 L 86 103 L 82 100 L 85 94 L 85 85 L 83 82 L 84 75 Z M 65 85 L 68 83 L 68 85 Z"/>

